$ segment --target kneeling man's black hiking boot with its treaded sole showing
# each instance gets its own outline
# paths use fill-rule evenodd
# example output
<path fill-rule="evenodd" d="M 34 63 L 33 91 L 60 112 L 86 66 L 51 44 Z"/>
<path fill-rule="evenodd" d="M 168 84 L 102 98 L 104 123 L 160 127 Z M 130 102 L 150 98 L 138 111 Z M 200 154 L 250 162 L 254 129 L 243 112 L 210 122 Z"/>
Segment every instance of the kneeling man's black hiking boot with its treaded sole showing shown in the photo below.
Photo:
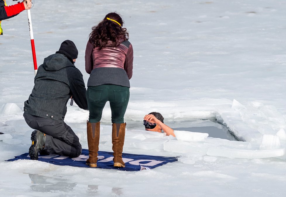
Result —
<path fill-rule="evenodd" d="M 46 134 L 40 131 L 33 131 L 31 134 L 32 145 L 29 148 L 29 155 L 32 160 L 38 160 L 39 151 L 43 150 L 46 143 Z"/>

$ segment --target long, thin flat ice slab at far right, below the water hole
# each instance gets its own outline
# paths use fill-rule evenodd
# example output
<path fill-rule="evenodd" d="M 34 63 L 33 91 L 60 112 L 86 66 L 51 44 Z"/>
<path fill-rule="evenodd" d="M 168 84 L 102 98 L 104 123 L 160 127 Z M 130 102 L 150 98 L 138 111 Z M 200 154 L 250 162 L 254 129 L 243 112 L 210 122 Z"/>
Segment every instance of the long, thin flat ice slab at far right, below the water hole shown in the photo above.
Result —
<path fill-rule="evenodd" d="M 281 157 L 286 154 L 285 148 L 272 149 L 272 150 L 240 150 L 229 148 L 209 148 L 206 153 L 211 156 L 229 157 L 229 158 L 246 158 L 246 159 L 258 159 L 258 158 L 271 158 Z"/>

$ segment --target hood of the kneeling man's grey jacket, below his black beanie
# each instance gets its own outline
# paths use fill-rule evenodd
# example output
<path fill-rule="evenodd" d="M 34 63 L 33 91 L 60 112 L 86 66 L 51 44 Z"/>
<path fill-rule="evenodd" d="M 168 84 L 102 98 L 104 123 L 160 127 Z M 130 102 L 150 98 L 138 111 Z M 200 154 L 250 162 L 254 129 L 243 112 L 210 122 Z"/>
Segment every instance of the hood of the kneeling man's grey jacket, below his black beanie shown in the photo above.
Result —
<path fill-rule="evenodd" d="M 43 68 L 47 71 L 57 71 L 69 66 L 75 67 L 70 60 L 61 53 L 55 53 L 46 57 L 43 63 Z"/>

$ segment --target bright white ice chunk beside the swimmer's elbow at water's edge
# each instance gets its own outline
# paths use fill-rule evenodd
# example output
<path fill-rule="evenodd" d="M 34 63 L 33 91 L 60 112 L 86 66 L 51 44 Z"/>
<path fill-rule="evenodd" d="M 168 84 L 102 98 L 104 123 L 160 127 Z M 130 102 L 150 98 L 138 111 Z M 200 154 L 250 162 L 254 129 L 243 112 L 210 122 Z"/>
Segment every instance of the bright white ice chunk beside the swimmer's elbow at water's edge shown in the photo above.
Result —
<path fill-rule="evenodd" d="M 208 133 L 190 132 L 190 131 L 174 131 L 176 138 L 179 141 L 189 141 L 189 142 L 204 142 L 209 136 Z"/>

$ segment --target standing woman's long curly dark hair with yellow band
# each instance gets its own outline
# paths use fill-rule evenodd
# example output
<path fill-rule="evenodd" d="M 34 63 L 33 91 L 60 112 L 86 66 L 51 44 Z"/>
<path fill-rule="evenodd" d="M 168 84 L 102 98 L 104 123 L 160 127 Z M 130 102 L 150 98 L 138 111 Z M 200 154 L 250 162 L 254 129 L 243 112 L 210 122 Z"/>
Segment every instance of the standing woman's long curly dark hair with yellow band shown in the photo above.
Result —
<path fill-rule="evenodd" d="M 120 25 L 107 18 L 117 21 Z M 129 37 L 126 28 L 122 28 L 123 23 L 119 14 L 114 12 L 108 13 L 97 26 L 92 27 L 92 32 L 89 34 L 89 42 L 94 47 L 98 46 L 99 50 L 104 48 L 109 41 L 115 47 L 120 39 L 126 40 Z"/>

